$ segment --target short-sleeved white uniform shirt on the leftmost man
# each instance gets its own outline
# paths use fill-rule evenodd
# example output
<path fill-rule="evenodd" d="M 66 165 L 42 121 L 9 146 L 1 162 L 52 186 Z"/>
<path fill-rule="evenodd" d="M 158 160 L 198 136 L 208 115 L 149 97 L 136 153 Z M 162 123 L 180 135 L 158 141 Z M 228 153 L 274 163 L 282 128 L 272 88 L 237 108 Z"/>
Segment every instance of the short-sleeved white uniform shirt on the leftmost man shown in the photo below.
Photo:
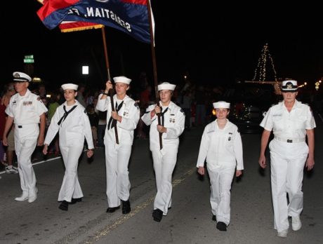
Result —
<path fill-rule="evenodd" d="M 20 96 L 19 93 L 13 95 L 6 107 L 6 114 L 14 118 L 13 123 L 16 125 L 39 123 L 39 116 L 46 111 L 44 103 L 29 89 L 24 96 Z"/>

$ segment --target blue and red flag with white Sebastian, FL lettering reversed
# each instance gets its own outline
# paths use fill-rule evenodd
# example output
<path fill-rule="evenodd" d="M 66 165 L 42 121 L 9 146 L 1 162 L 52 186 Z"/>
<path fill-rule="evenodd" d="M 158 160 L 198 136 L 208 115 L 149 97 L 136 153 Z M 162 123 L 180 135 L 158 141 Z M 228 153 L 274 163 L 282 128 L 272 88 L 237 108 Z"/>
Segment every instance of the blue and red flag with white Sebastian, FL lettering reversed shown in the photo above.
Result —
<path fill-rule="evenodd" d="M 106 25 L 150 43 L 147 0 L 44 0 L 37 15 L 48 29 L 64 23 Z"/>

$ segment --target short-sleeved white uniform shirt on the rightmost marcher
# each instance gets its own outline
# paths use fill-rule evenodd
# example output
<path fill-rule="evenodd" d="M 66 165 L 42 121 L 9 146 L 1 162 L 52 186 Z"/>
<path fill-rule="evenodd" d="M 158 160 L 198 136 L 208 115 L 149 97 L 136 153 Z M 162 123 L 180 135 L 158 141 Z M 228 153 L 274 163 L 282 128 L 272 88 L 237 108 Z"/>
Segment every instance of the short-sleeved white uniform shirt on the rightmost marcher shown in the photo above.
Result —
<path fill-rule="evenodd" d="M 275 137 L 305 139 L 306 130 L 311 130 L 316 125 L 310 107 L 295 100 L 290 112 L 286 109 L 284 101 L 270 107 L 261 121 L 261 127 L 273 130 Z"/>

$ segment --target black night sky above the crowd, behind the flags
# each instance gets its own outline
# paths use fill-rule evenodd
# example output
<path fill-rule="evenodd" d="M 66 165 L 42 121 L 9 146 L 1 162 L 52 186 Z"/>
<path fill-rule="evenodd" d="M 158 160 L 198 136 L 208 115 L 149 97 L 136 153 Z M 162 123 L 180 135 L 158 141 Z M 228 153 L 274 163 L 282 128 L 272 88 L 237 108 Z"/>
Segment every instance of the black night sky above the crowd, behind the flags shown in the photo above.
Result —
<path fill-rule="evenodd" d="M 323 21 L 318 6 L 229 3 L 211 8 L 208 1 L 190 2 L 152 1 L 159 81 L 178 83 L 185 71 L 198 83 L 250 80 L 265 43 L 277 77 L 314 83 L 323 76 Z M 0 17 L 5 44 L 1 83 L 11 81 L 12 72 L 23 70 L 27 54 L 34 55 L 34 75 L 48 83 L 84 82 L 81 65 L 85 64 L 90 66 L 88 83 L 105 81 L 100 30 L 49 30 L 36 14 L 41 7 L 36 0 L 7 4 L 11 8 Z M 112 76 L 124 74 L 136 80 L 145 71 L 152 77 L 150 45 L 109 27 L 106 33 Z"/>

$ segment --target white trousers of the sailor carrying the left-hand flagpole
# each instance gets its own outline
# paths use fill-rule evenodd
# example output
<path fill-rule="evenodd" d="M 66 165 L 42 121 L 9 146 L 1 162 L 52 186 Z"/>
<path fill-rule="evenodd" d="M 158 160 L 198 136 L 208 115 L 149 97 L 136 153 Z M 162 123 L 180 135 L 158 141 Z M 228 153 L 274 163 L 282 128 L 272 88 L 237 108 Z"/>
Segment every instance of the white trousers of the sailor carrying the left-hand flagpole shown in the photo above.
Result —
<path fill-rule="evenodd" d="M 105 139 L 105 170 L 107 173 L 107 204 L 118 207 L 120 200 L 127 201 L 130 196 L 128 163 L 131 145 L 115 144 Z"/>

